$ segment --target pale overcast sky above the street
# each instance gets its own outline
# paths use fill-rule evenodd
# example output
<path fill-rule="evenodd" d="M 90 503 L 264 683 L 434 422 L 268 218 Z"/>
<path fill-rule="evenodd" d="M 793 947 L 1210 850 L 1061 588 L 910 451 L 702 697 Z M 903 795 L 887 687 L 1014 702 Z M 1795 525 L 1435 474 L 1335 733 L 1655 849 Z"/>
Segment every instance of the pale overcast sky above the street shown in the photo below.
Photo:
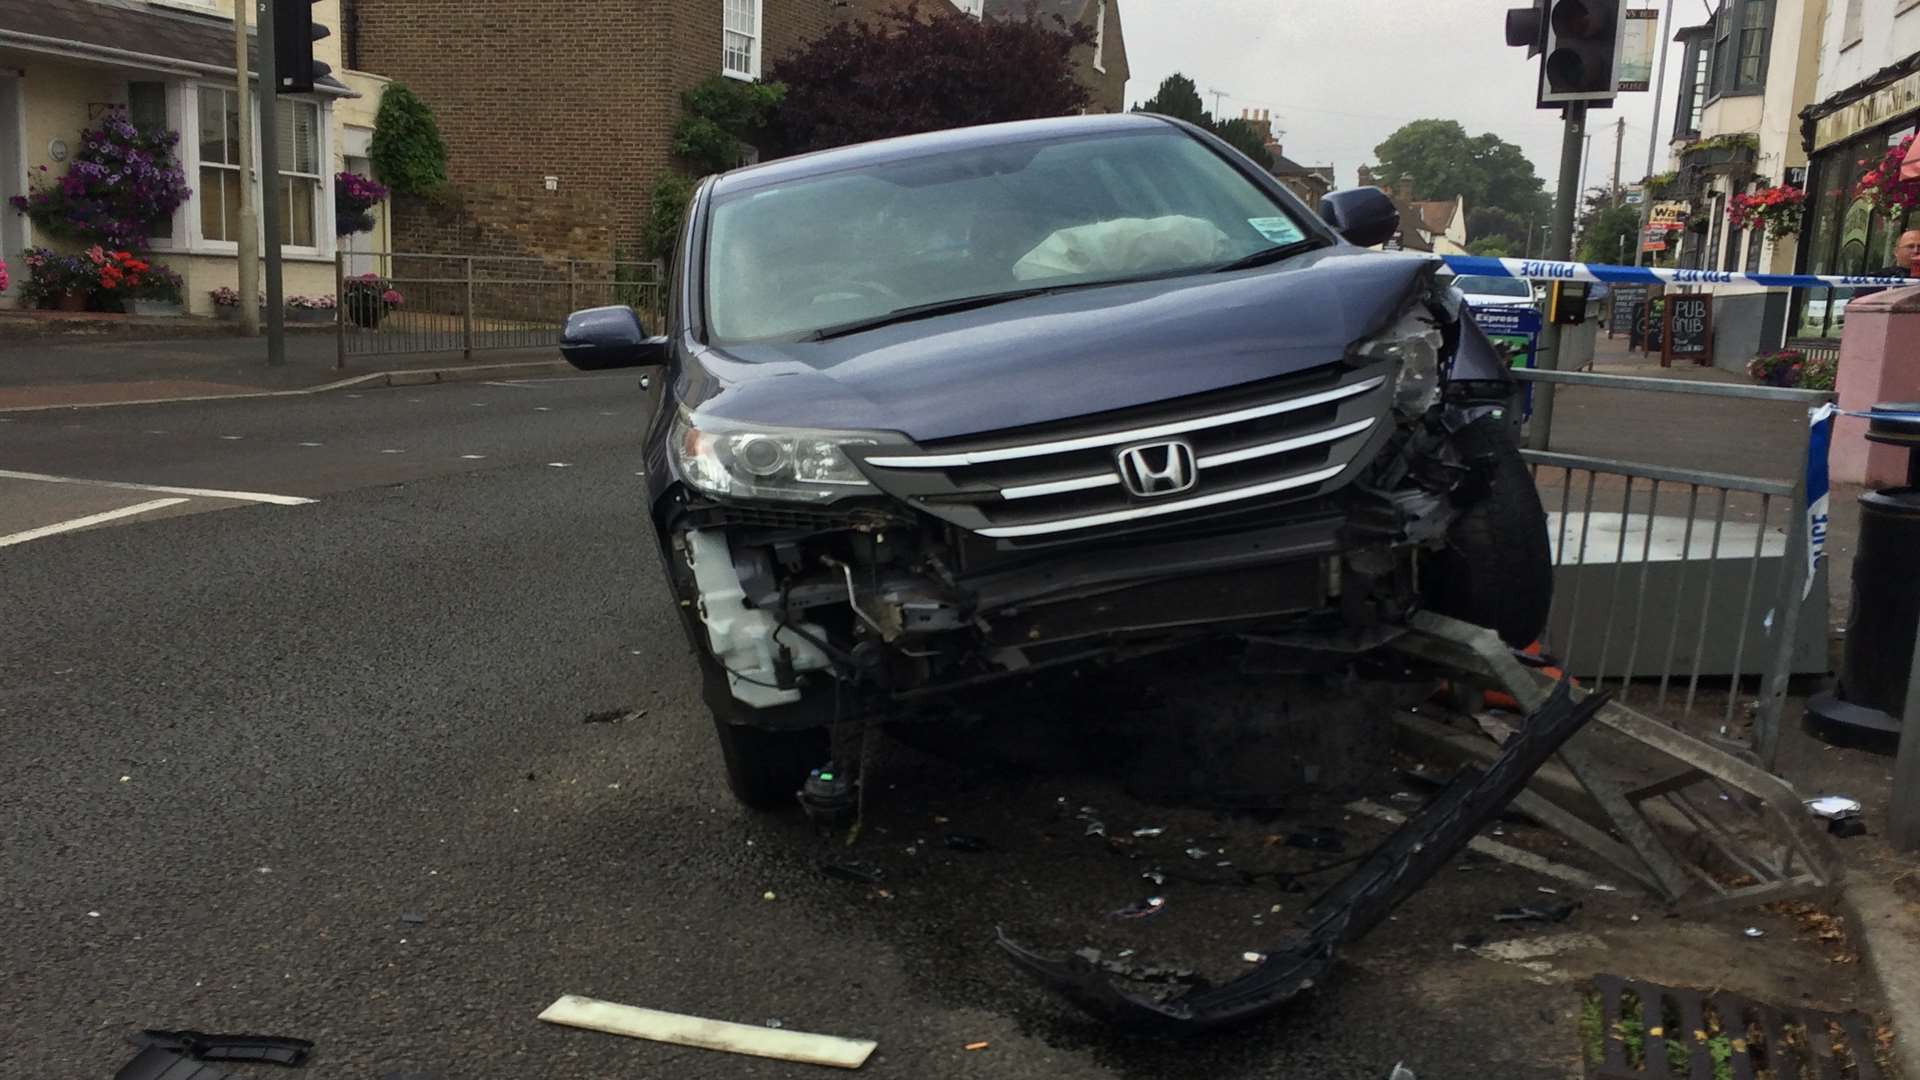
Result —
<path fill-rule="evenodd" d="M 1505 10 L 1524 0 L 1119 0 L 1127 38 L 1127 106 L 1179 71 L 1200 85 L 1208 111 L 1269 110 L 1283 152 L 1302 165 L 1334 165 L 1338 186 L 1411 119 L 1457 119 L 1519 146 L 1553 190 L 1559 111 L 1534 108 L 1538 58 L 1507 48 Z M 1672 0 L 1693 25 L 1705 0 Z M 1649 4 L 1651 6 L 1651 4 Z M 1665 33 L 1663 38 L 1670 37 Z M 1657 61 L 1655 54 L 1655 61 Z M 1680 50 L 1667 69 L 1668 110 Z M 1588 117 L 1586 184 L 1613 175 L 1615 119 L 1626 117 L 1624 183 L 1647 171 L 1653 94 L 1620 94 L 1624 108 Z M 1670 117 L 1670 111 L 1663 113 Z M 1667 165 L 1665 142 L 1655 169 Z"/>

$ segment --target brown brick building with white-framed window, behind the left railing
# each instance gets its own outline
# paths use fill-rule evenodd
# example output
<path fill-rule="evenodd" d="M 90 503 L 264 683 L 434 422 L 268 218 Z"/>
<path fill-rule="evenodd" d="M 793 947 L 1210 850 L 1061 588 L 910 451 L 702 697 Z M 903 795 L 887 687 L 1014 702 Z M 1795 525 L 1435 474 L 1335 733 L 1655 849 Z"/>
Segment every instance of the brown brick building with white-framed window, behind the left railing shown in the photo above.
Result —
<path fill-rule="evenodd" d="M 630 252 L 672 163 L 680 94 L 758 79 L 887 0 L 344 0 L 346 61 L 411 86 L 447 140 L 457 200 L 396 200 L 394 248 Z"/>

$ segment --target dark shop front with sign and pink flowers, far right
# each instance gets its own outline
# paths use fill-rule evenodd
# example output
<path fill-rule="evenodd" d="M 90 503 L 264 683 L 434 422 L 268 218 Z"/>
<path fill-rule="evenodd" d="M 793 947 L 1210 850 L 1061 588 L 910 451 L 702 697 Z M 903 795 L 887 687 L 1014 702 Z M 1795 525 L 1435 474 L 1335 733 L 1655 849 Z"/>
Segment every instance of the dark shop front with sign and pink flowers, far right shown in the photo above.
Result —
<path fill-rule="evenodd" d="M 1807 223 L 1797 271 L 1864 275 L 1893 263 L 1893 244 L 1920 227 L 1910 206 L 1862 192 L 1862 181 L 1882 169 L 1920 129 L 1920 54 L 1882 69 L 1801 113 L 1801 138 L 1811 163 Z M 1853 288 L 1795 290 L 1791 338 L 1832 348 L 1847 321 Z"/>

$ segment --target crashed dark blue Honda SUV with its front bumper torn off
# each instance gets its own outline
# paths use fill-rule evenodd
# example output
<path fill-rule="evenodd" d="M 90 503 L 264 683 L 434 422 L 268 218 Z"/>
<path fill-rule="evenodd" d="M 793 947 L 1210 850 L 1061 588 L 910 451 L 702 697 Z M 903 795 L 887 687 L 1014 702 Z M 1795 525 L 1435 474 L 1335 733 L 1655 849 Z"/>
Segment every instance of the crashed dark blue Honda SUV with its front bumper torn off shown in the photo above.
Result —
<path fill-rule="evenodd" d="M 1311 213 L 1152 115 L 947 131 L 707 179 L 657 365 L 651 523 L 741 801 L 835 719 L 1417 607 L 1530 642 L 1551 590 L 1505 361 L 1375 188 Z"/>

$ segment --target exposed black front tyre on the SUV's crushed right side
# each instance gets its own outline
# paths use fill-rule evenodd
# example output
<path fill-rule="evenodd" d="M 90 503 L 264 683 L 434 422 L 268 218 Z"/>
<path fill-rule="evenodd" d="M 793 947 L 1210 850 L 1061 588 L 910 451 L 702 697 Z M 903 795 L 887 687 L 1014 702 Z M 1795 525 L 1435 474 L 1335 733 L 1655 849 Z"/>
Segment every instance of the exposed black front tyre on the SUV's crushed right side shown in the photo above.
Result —
<path fill-rule="evenodd" d="M 1503 421 L 1484 419 L 1455 436 L 1486 492 L 1448 530 L 1427 563 L 1427 607 L 1492 626 L 1513 648 L 1540 640 L 1553 605 L 1553 552 L 1546 509 Z"/>

